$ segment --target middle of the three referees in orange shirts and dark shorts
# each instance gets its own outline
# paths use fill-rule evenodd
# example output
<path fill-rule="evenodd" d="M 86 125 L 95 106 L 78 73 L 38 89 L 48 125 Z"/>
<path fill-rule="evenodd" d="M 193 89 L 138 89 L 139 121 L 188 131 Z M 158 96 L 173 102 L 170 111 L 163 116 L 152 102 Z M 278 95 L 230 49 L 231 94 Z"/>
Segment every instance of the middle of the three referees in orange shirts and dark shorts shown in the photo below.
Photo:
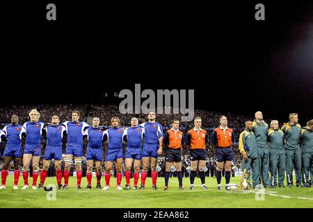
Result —
<path fill-rule="evenodd" d="M 204 167 L 207 163 L 207 155 L 205 153 L 206 145 L 209 143 L 209 135 L 207 130 L 201 128 L 201 118 L 195 117 L 195 127 L 186 134 L 187 145 L 190 148 L 191 155 L 191 171 L 190 171 L 190 189 L 194 189 L 195 171 L 199 164 L 199 177 L 201 179 L 201 189 L 207 190 L 205 186 Z"/>

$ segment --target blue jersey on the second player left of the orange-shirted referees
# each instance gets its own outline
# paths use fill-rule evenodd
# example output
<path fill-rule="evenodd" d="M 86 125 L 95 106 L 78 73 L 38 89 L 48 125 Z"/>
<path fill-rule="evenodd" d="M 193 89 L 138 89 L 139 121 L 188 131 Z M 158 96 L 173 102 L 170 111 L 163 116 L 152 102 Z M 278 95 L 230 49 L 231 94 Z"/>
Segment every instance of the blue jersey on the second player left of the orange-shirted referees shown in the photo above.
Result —
<path fill-rule="evenodd" d="M 123 139 L 127 142 L 127 148 L 141 148 L 145 129 L 141 126 L 129 127 L 124 131 Z"/>

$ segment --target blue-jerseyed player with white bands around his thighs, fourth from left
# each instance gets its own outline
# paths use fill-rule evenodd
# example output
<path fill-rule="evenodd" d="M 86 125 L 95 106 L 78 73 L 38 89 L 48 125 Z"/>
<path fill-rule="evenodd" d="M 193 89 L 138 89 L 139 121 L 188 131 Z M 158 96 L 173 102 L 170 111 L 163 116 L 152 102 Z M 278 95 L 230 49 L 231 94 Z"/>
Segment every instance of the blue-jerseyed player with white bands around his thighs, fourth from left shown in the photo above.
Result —
<path fill-rule="evenodd" d="M 83 159 L 83 131 L 89 127 L 87 123 L 79 121 L 80 112 L 72 111 L 72 121 L 65 121 L 63 125 L 67 133 L 67 145 L 65 149 L 65 169 L 64 169 L 64 186 L 63 189 L 68 189 L 68 178 L 70 178 L 70 168 L 74 157 L 76 175 L 77 175 L 77 189 L 81 189 L 81 160 Z"/>

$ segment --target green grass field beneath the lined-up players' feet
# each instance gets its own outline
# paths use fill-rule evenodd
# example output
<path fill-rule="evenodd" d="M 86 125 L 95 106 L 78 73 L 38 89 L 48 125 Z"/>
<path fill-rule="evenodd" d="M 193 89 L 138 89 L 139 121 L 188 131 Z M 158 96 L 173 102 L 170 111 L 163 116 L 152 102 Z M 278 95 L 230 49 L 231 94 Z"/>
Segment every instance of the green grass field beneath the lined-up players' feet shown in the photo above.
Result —
<path fill-rule="evenodd" d="M 39 181 L 40 178 L 38 178 Z M 33 179 L 29 178 L 29 182 Z M 224 178 L 222 180 L 225 180 Z M 240 177 L 231 178 L 239 184 Z M 96 179 L 93 178 L 93 186 Z M 132 183 L 131 179 L 131 183 Z M 45 185 L 56 184 L 56 178 L 47 178 Z M 147 178 L 145 190 L 115 189 L 116 178 L 111 178 L 111 189 L 86 189 L 86 178 L 82 180 L 81 190 L 76 189 L 76 178 L 70 178 L 70 189 L 56 190 L 56 200 L 47 200 L 47 191 L 43 189 L 24 189 L 22 176 L 19 189 L 13 189 L 13 176 L 8 176 L 6 189 L 0 189 L 0 207 L 106 207 L 106 208 L 210 208 L 210 207 L 313 207 L 313 188 L 277 188 L 261 191 L 218 191 L 216 179 L 206 178 L 209 190 L 200 189 L 200 178 L 195 178 L 195 190 L 190 191 L 189 178 L 184 178 L 185 190 L 178 190 L 177 178 L 170 178 L 169 189 L 164 191 L 164 178 L 158 178 L 157 190 L 152 190 L 151 178 Z M 140 180 L 138 184 L 140 183 Z M 122 185 L 125 178 L 122 178 Z M 102 178 L 102 186 L 104 178 Z M 222 183 L 223 185 L 223 183 Z M 258 193 L 257 193 L 258 192 Z M 258 199 L 256 200 L 256 196 Z M 264 199 L 264 200 L 262 200 Z"/>

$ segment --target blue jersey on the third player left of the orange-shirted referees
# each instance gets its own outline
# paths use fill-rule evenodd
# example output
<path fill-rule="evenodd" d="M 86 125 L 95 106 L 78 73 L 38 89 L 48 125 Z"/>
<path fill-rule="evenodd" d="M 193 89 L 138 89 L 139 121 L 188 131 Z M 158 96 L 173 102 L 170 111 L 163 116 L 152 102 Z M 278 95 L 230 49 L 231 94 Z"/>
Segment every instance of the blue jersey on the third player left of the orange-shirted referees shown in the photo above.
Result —
<path fill-rule="evenodd" d="M 104 141 L 109 139 L 108 149 L 120 149 L 123 147 L 124 130 L 122 128 L 109 128 L 104 131 Z"/>

